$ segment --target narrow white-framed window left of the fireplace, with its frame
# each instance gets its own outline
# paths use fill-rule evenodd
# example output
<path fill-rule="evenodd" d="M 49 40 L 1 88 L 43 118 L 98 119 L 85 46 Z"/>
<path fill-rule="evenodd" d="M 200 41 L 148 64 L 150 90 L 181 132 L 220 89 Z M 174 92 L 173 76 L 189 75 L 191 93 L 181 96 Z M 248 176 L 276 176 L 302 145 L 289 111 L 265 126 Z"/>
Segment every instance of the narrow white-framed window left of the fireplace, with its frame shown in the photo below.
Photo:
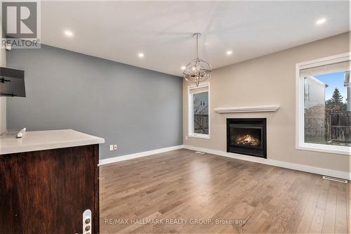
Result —
<path fill-rule="evenodd" d="M 189 136 L 209 138 L 209 85 L 189 87 Z"/>

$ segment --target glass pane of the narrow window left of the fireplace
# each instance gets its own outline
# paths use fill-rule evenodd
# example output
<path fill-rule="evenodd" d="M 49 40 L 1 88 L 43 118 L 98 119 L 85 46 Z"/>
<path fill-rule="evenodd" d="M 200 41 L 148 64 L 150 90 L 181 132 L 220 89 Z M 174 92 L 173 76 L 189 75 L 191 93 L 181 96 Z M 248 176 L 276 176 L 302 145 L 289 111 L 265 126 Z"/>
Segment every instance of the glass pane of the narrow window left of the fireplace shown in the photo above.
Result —
<path fill-rule="evenodd" d="M 192 93 L 193 134 L 208 135 L 208 91 Z"/>

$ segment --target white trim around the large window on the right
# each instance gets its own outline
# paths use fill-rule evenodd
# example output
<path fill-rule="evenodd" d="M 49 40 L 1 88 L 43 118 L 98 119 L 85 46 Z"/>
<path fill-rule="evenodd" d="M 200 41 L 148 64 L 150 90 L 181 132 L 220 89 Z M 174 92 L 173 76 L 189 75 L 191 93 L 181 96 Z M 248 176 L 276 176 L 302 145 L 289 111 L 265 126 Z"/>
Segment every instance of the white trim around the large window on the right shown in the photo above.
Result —
<path fill-rule="evenodd" d="M 351 149 L 347 146 L 340 145 L 322 145 L 315 143 L 305 143 L 305 117 L 304 117 L 304 86 L 303 79 L 300 77 L 300 70 L 328 65 L 331 63 L 340 63 L 351 60 L 351 52 L 341 53 L 336 56 L 329 56 L 310 60 L 303 63 L 296 63 L 296 149 L 310 150 L 317 152 L 329 152 L 341 155 L 351 155 Z"/>

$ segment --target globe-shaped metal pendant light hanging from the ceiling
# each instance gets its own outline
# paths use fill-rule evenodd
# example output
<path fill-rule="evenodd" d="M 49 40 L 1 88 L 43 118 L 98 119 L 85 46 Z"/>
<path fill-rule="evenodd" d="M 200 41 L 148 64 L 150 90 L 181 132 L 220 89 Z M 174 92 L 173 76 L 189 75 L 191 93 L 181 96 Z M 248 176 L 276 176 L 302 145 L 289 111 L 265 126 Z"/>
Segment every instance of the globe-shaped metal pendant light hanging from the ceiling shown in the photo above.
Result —
<path fill-rule="evenodd" d="M 205 60 L 199 58 L 199 37 L 200 33 L 192 35 L 197 40 L 196 58 L 187 64 L 183 70 L 184 79 L 190 85 L 199 86 L 201 82 L 206 81 L 211 77 L 211 66 Z"/>

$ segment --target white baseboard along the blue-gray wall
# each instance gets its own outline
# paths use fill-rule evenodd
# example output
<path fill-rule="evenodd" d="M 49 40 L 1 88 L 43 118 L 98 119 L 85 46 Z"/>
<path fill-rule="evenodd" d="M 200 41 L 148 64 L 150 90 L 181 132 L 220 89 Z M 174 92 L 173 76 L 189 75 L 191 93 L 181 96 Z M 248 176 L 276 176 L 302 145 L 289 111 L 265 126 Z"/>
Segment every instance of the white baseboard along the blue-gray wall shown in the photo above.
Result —
<path fill-rule="evenodd" d="M 145 151 L 145 152 L 136 152 L 134 154 L 131 155 L 123 155 L 123 156 L 117 156 L 117 157 L 110 157 L 107 158 L 105 160 L 99 160 L 99 165 L 104 165 L 104 164 L 110 164 L 113 162 L 120 162 L 120 161 L 124 161 L 124 160 L 132 160 L 133 158 L 137 158 L 137 157 L 145 157 L 145 156 L 149 156 L 149 155 L 156 155 L 159 154 L 161 152 L 168 152 L 171 150 L 179 150 L 179 149 L 183 149 L 184 145 L 176 145 L 176 146 L 171 146 L 168 148 L 161 148 L 161 149 L 157 149 L 157 150 L 149 150 L 149 151 Z"/>

